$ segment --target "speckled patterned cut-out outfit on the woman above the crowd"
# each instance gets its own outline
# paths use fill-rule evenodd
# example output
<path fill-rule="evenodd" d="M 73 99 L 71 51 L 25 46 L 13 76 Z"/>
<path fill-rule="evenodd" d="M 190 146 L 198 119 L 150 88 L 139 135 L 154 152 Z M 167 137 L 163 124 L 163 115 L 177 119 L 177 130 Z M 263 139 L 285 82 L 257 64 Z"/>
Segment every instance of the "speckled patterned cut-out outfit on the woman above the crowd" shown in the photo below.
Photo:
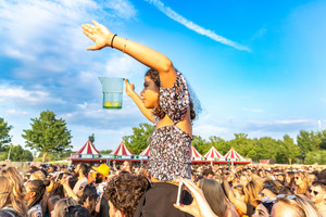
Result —
<path fill-rule="evenodd" d="M 184 76 L 177 72 L 172 88 L 160 87 L 160 106 L 174 125 L 154 129 L 150 137 L 148 171 L 160 181 L 173 181 L 176 177 L 191 178 L 191 136 L 175 126 L 185 118 L 190 97 Z M 155 117 L 155 125 L 158 124 Z"/>

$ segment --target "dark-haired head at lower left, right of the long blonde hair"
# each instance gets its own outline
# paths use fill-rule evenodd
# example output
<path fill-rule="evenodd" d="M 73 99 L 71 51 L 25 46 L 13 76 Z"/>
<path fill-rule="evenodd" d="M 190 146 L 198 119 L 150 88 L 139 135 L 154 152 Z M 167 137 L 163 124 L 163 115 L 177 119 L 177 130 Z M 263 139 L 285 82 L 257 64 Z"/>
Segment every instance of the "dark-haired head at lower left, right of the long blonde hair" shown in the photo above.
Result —
<path fill-rule="evenodd" d="M 46 184 L 42 180 L 29 180 L 25 183 L 26 194 L 25 201 L 27 201 L 27 208 L 40 203 L 46 192 Z"/>

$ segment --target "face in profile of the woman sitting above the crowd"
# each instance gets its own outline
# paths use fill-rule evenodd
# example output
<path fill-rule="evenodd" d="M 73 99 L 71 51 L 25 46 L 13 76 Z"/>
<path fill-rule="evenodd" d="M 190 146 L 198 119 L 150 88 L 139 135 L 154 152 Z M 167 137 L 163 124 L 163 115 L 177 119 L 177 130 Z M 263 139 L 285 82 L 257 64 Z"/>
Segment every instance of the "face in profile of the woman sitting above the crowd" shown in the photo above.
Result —
<path fill-rule="evenodd" d="M 149 77 L 145 77 L 143 89 L 140 93 L 142 103 L 147 108 L 155 108 L 159 103 L 159 87 Z"/>

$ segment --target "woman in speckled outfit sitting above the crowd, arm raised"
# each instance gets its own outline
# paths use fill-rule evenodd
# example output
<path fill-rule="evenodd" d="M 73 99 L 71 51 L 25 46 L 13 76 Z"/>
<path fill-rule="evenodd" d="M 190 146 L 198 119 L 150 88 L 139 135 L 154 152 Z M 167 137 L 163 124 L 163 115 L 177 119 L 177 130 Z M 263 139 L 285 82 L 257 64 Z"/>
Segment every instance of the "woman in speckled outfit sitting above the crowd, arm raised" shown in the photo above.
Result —
<path fill-rule="evenodd" d="M 83 25 L 84 34 L 96 42 L 88 50 L 115 48 L 150 67 L 140 97 L 134 91 L 134 85 L 125 80 L 127 94 L 155 125 L 148 163 L 153 188 L 146 193 L 146 202 L 150 203 L 143 205 L 143 213 L 181 216 L 183 213 L 173 207 L 177 196 L 173 181 L 177 177 L 191 178 L 190 145 L 192 119 L 196 117 L 186 79 L 164 54 L 121 38 L 95 21 L 92 23 Z"/>

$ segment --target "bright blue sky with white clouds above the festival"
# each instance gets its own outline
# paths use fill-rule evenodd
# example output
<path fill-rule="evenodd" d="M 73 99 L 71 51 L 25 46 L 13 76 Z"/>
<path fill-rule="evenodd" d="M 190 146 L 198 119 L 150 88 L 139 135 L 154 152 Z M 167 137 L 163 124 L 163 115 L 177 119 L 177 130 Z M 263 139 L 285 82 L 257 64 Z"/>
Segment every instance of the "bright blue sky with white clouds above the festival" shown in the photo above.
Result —
<path fill-rule="evenodd" d="M 197 136 L 296 138 L 318 119 L 325 129 L 325 11 L 322 0 L 0 0 L 0 117 L 24 145 L 30 118 L 53 111 L 74 150 L 92 133 L 98 150 L 115 149 L 148 123 L 126 94 L 121 111 L 101 108 L 98 77 L 126 77 L 140 92 L 147 67 L 86 51 L 80 25 L 96 20 L 173 61 L 201 102 Z"/>

